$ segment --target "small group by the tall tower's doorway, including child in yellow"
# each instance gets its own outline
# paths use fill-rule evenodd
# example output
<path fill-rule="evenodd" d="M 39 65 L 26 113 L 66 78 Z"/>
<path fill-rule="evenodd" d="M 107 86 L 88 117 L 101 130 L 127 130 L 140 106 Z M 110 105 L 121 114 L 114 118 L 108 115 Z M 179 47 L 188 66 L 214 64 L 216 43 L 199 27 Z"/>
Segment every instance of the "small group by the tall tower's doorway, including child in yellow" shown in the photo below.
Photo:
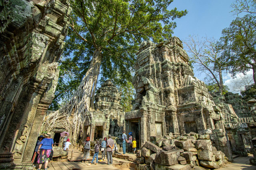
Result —
<path fill-rule="evenodd" d="M 123 131 L 123 134 L 122 134 L 123 155 L 126 153 L 126 143 L 128 145 L 128 152 L 133 152 L 133 154 L 135 154 L 135 151 L 137 148 L 137 142 L 136 142 L 136 139 L 132 137 L 132 132 L 128 134 L 129 134 L 129 139 L 127 139 L 127 135 L 125 134 L 125 131 Z"/>

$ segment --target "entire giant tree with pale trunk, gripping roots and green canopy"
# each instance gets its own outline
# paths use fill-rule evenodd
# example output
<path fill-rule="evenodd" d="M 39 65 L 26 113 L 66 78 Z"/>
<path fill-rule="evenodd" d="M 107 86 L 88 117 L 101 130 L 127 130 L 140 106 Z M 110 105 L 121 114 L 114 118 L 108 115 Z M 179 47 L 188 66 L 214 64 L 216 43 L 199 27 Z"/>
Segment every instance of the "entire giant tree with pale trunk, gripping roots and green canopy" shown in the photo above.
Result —
<path fill-rule="evenodd" d="M 162 41 L 171 37 L 174 20 L 187 11 L 168 10 L 170 1 L 74 0 L 66 53 L 84 56 L 90 66 L 65 106 L 49 115 L 47 128 L 59 117 L 73 121 L 73 140 L 83 128 L 84 116 L 93 109 L 94 92 L 100 73 L 102 77 L 121 80 L 131 77 L 132 64 L 139 43 L 143 40 Z M 76 55 L 77 54 L 77 55 Z M 73 117 L 73 118 L 70 118 Z M 66 123 L 68 124 L 68 123 Z M 67 127 L 68 128 L 68 127 Z"/>

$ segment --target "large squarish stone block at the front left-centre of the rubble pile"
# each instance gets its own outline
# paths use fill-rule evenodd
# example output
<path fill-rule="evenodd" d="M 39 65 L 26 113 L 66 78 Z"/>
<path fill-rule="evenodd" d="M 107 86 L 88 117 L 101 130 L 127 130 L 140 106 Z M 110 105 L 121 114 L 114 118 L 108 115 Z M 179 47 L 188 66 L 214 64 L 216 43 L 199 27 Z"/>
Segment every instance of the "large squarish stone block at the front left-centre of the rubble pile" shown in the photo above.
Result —
<path fill-rule="evenodd" d="M 156 154 L 155 163 L 170 166 L 170 165 L 178 164 L 179 157 L 180 157 L 180 152 L 177 150 L 175 151 L 161 150 Z"/>

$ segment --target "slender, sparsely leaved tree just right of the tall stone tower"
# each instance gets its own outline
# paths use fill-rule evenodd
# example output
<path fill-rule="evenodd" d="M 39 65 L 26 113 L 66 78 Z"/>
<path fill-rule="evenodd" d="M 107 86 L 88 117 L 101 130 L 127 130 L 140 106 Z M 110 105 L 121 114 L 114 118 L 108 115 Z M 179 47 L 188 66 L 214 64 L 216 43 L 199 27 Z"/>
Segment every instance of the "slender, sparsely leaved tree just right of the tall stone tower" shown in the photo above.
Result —
<path fill-rule="evenodd" d="M 190 62 L 198 71 L 205 73 L 205 81 L 210 91 L 218 91 L 222 94 L 224 90 L 222 72 L 226 70 L 220 61 L 223 50 L 214 38 L 199 38 L 189 36 L 186 41 L 186 50 L 190 56 Z"/>

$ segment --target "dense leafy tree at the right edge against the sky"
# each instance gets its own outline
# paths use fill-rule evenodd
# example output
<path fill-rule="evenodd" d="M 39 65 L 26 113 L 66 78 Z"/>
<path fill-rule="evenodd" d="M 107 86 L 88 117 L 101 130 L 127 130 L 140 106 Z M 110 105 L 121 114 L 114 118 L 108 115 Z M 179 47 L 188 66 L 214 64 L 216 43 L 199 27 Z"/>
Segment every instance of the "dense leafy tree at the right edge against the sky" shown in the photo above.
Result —
<path fill-rule="evenodd" d="M 230 26 L 222 30 L 222 62 L 229 67 L 233 77 L 237 73 L 253 71 L 256 84 L 256 16 L 247 14 L 237 17 Z"/>

